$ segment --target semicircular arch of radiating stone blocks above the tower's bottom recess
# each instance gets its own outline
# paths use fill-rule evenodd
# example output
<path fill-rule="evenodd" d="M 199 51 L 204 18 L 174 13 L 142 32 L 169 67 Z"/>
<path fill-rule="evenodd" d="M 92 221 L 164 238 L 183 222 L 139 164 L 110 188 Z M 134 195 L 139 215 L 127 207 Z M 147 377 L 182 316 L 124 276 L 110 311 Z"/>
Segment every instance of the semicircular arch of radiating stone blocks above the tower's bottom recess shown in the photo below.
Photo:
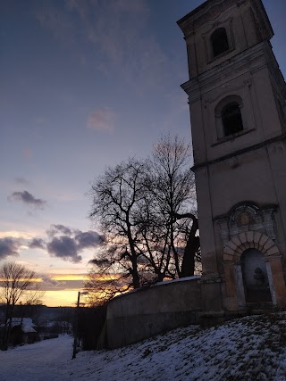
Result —
<path fill-rule="evenodd" d="M 248 249 L 257 249 L 264 253 L 265 260 L 270 257 L 280 256 L 277 245 L 269 236 L 257 231 L 247 231 L 240 233 L 238 236 L 233 236 L 231 241 L 224 244 L 223 261 L 224 262 L 239 262 L 240 255 Z"/>

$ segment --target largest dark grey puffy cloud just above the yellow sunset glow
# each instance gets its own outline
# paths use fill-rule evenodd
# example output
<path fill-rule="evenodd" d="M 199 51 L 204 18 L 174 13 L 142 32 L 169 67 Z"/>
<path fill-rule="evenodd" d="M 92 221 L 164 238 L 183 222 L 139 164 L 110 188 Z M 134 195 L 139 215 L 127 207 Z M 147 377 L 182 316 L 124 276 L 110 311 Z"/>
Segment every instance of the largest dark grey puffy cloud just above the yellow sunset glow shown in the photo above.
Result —
<path fill-rule="evenodd" d="M 78 263 L 82 260 L 78 254 L 77 244 L 70 236 L 55 236 L 46 247 L 49 254 L 53 257 L 62 258 L 64 261 Z"/>

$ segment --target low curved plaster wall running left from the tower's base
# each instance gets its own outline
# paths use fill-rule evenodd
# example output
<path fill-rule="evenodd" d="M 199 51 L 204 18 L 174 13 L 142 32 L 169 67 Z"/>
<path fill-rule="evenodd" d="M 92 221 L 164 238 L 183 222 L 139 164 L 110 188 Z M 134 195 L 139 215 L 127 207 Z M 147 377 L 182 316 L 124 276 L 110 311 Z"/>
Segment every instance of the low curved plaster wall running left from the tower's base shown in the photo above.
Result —
<path fill-rule="evenodd" d="M 162 282 L 114 298 L 107 308 L 108 348 L 136 343 L 175 327 L 198 322 L 199 277 Z"/>

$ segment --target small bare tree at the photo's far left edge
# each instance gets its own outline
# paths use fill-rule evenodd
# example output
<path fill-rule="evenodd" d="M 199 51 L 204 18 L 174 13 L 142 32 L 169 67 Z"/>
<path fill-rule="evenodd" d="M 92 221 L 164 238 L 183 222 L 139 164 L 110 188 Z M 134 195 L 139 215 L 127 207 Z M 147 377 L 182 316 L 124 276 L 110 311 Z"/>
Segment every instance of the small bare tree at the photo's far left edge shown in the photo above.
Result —
<path fill-rule="evenodd" d="M 39 302 L 36 274 L 11 261 L 0 267 L 0 302 L 4 305 L 4 349 L 9 344 L 14 307 L 17 303 Z"/>

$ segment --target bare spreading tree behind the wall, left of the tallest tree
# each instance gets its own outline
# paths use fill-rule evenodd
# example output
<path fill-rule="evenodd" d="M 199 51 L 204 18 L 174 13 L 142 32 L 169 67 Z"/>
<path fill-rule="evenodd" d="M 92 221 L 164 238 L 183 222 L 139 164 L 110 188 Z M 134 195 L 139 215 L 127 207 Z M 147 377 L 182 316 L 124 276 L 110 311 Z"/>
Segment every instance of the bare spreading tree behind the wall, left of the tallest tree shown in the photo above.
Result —
<path fill-rule="evenodd" d="M 130 286 L 139 288 L 139 256 L 137 248 L 139 204 L 145 195 L 146 162 L 130 159 L 114 169 L 105 170 L 91 186 L 92 209 L 89 218 L 98 222 L 105 234 L 105 247 L 94 265 L 131 277 Z"/>

